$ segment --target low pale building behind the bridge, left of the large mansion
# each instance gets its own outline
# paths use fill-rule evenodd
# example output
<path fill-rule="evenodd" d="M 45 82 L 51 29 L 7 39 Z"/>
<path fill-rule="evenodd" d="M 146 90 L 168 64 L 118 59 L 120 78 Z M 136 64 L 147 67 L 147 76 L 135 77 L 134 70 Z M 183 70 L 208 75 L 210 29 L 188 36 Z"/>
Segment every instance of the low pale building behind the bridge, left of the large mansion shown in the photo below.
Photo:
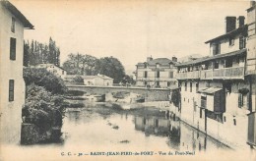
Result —
<path fill-rule="evenodd" d="M 72 82 L 79 75 L 66 75 L 64 80 L 67 82 Z M 93 86 L 112 86 L 113 79 L 104 75 L 97 74 L 96 76 L 80 76 L 84 80 L 85 85 Z"/>

